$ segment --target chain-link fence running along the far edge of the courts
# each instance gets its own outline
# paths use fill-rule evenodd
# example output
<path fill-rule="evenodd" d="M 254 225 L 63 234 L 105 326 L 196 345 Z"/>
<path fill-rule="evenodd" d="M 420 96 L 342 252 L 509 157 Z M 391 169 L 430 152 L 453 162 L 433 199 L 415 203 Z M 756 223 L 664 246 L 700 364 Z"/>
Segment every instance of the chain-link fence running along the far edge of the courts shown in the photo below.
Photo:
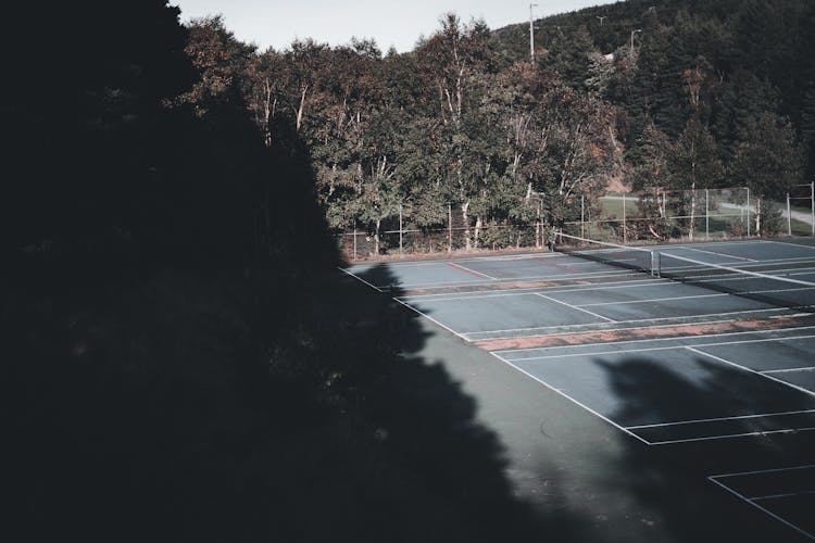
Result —
<path fill-rule="evenodd" d="M 388 217 L 379 232 L 358 225 L 337 236 L 348 260 L 408 254 L 542 249 L 551 227 L 532 205 L 517 218 L 468 224 L 444 204 L 447 222 L 417 226 L 410 216 Z M 559 209 L 564 233 L 616 243 L 665 243 L 766 236 L 815 236 L 815 184 L 792 187 L 781 201 L 758 199 L 745 187 L 686 191 L 610 192 L 576 197 Z M 401 227 L 400 227 L 401 225 Z"/>

